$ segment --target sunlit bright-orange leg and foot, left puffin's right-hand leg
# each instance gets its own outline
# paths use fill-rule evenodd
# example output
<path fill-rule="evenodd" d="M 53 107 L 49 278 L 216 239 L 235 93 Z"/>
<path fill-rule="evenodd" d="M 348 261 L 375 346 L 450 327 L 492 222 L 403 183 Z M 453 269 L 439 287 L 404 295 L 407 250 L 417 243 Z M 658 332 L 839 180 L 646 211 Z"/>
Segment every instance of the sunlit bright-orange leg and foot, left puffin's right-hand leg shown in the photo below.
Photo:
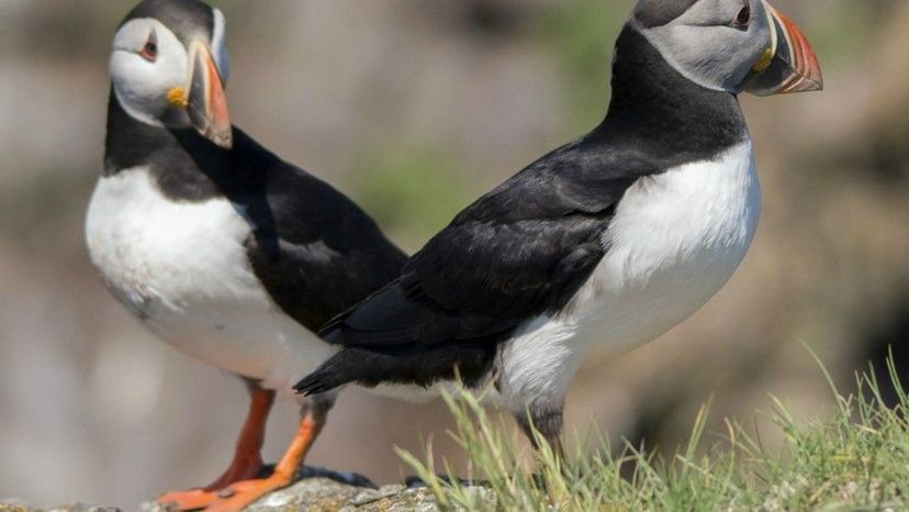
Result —
<path fill-rule="evenodd" d="M 262 496 L 293 482 L 293 474 L 306 458 L 306 453 L 325 424 L 327 408 L 311 401 L 301 413 L 300 426 L 274 472 L 268 478 L 238 481 L 221 490 L 223 498 L 209 505 L 206 512 L 239 512 Z"/>

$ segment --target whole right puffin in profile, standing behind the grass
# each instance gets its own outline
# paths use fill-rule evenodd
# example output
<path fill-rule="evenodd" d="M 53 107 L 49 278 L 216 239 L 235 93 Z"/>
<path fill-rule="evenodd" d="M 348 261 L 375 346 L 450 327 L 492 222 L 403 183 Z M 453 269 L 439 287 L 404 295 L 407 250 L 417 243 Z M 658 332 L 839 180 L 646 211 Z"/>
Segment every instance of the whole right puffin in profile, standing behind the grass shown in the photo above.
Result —
<path fill-rule="evenodd" d="M 761 212 L 738 96 L 822 89 L 765 0 L 639 0 L 590 133 L 461 211 L 381 291 L 332 320 L 340 350 L 295 389 L 481 389 L 557 454 L 579 367 L 647 343 L 732 276 Z M 539 446 L 537 446 L 539 447 Z"/>

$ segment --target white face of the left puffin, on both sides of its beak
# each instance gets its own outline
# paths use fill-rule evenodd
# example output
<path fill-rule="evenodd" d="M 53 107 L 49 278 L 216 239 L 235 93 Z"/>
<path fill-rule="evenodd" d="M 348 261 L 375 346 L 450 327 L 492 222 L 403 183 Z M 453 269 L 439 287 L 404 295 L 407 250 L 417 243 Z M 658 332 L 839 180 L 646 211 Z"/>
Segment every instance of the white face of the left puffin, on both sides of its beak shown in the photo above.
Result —
<path fill-rule="evenodd" d="M 225 23 L 216 9 L 214 22 L 212 57 L 222 82 L 226 82 Z M 161 22 L 142 18 L 121 26 L 114 36 L 110 70 L 116 98 L 130 115 L 156 126 L 191 125 L 186 110 L 168 100 L 175 88 L 190 88 L 190 52 Z"/>

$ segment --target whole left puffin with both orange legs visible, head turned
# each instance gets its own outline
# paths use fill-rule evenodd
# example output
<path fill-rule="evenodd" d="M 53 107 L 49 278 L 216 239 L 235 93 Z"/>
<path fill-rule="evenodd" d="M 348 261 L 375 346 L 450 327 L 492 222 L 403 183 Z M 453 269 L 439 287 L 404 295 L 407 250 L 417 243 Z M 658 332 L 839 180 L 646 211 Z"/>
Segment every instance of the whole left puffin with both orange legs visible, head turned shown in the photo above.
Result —
<path fill-rule="evenodd" d="M 116 30 L 110 75 L 91 261 L 157 337 L 236 375 L 250 399 L 223 475 L 157 501 L 240 510 L 291 482 L 335 400 L 296 397 L 295 437 L 259 478 L 276 391 L 294 397 L 301 372 L 337 350 L 318 329 L 394 279 L 406 256 L 343 193 L 231 124 L 220 10 L 138 3 Z"/>

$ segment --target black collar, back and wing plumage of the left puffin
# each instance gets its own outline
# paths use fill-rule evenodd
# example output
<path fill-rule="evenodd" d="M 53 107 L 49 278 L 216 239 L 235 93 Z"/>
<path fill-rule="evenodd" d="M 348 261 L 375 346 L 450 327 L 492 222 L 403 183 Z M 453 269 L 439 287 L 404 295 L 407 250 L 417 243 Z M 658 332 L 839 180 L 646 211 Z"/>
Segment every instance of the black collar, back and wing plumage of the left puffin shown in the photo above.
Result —
<path fill-rule="evenodd" d="M 314 332 L 399 275 L 406 256 L 362 210 L 238 129 L 233 134 L 224 149 L 192 130 L 144 124 L 112 92 L 104 174 L 146 166 L 173 201 L 229 200 L 252 229 L 246 248 L 256 276 Z"/>

